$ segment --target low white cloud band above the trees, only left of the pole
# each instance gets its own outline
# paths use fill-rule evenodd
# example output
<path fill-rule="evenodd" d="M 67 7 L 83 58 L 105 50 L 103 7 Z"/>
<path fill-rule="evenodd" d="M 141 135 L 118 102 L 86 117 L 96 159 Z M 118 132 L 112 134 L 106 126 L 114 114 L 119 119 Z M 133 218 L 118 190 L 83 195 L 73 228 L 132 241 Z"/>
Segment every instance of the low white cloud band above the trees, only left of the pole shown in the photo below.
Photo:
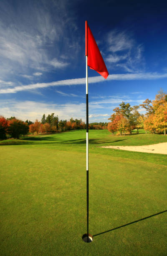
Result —
<path fill-rule="evenodd" d="M 69 120 L 71 117 L 85 120 L 86 104 L 49 104 L 34 101 L 0 101 L 0 115 L 8 118 L 15 116 L 21 120 L 40 120 L 43 113 L 46 115 L 55 113 L 59 119 Z"/>

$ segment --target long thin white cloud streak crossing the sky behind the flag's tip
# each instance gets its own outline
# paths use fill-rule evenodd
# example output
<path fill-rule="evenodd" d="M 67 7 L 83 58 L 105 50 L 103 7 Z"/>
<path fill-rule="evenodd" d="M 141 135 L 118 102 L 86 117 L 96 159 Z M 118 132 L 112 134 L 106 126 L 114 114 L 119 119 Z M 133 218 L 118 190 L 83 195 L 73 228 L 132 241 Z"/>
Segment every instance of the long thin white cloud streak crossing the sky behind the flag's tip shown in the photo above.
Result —
<path fill-rule="evenodd" d="M 159 73 L 112 74 L 112 75 L 108 76 L 107 80 L 101 76 L 89 77 L 89 83 L 108 82 L 111 80 L 154 80 L 154 79 L 162 79 L 162 78 L 166 78 L 166 77 L 167 77 L 167 73 L 165 73 L 165 74 L 159 74 Z M 25 91 L 25 90 L 34 90 L 37 88 L 67 86 L 67 85 L 80 85 L 80 84 L 85 84 L 85 81 L 86 81 L 85 78 L 76 78 L 76 79 L 60 80 L 60 81 L 56 81 L 56 82 L 20 85 L 20 86 L 16 86 L 13 88 L 0 89 L 0 94 L 16 93 L 16 92 Z"/>

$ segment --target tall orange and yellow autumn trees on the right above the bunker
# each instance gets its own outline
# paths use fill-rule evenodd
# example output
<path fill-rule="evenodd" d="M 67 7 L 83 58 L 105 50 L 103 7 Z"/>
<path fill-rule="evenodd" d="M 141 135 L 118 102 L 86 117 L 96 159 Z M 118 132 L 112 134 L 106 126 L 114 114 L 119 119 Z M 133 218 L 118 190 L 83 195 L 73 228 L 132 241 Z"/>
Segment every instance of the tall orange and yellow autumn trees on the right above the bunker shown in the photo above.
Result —
<path fill-rule="evenodd" d="M 139 108 L 146 110 L 145 115 L 139 113 Z M 152 133 L 164 133 L 167 130 L 167 94 L 160 90 L 155 100 L 146 99 L 143 104 L 131 107 L 129 103 L 122 102 L 115 108 L 107 125 L 112 135 L 132 133 L 132 130 L 140 128 Z"/>

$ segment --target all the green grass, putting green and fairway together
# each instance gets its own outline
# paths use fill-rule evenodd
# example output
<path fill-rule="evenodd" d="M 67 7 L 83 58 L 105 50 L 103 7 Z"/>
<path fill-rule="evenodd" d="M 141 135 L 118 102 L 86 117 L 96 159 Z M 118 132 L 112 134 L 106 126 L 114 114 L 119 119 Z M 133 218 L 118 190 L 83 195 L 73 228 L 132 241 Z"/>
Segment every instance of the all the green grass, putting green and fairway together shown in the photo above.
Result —
<path fill-rule="evenodd" d="M 89 244 L 81 239 L 85 136 L 81 130 L 0 142 L 0 255 L 166 255 L 167 212 L 154 214 L 167 210 L 167 156 L 99 146 L 167 136 L 89 132 Z"/>

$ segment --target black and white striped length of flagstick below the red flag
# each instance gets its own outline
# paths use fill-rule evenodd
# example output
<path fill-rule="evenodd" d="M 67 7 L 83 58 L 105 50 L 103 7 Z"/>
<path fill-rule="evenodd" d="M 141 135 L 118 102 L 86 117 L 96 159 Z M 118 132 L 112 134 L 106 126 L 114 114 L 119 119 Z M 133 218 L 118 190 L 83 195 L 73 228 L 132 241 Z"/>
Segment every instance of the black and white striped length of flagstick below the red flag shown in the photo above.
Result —
<path fill-rule="evenodd" d="M 86 198 L 87 198 L 87 243 L 89 241 L 89 119 L 88 119 L 88 56 L 86 56 Z"/>

